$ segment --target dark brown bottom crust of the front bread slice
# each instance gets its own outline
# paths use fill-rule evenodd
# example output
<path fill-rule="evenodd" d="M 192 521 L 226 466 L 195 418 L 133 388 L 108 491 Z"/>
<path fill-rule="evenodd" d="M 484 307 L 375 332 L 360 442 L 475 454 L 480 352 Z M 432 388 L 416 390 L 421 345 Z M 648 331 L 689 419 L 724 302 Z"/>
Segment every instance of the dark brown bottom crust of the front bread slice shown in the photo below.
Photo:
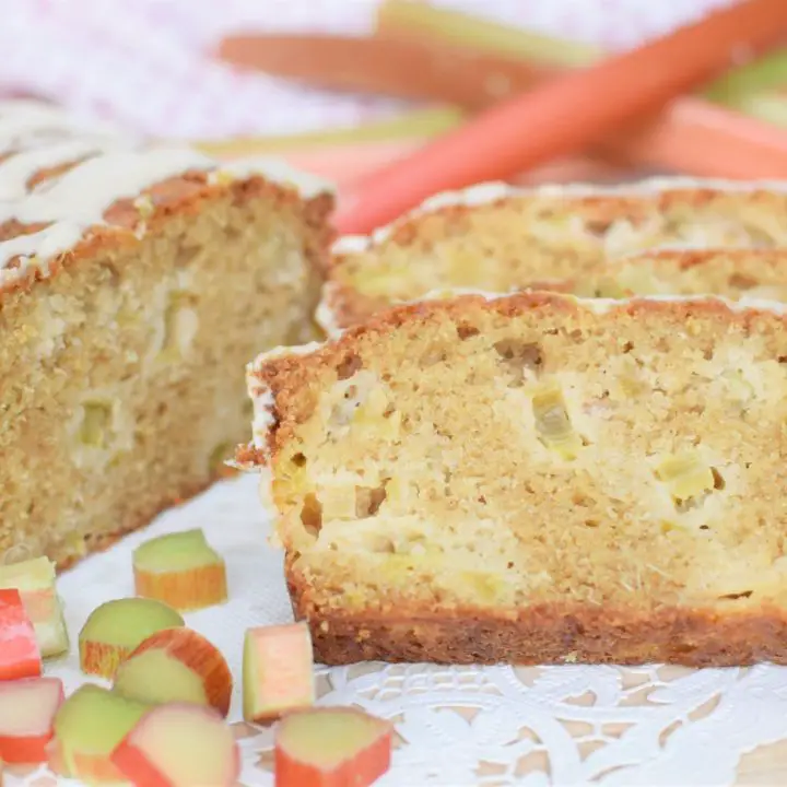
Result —
<path fill-rule="evenodd" d="M 787 663 L 787 612 L 776 607 L 724 613 L 552 603 L 496 615 L 402 607 L 385 614 L 341 615 L 312 603 L 310 588 L 293 572 L 292 555 L 285 572 L 295 619 L 308 621 L 315 659 L 325 665 Z"/>

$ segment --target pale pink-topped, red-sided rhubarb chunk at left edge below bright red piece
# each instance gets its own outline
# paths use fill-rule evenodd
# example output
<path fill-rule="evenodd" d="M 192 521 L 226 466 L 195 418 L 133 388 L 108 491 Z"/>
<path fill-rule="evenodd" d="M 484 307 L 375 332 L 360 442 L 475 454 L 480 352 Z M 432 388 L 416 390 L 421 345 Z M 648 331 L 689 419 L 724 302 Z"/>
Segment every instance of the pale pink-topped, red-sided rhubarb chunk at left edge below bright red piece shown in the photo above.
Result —
<path fill-rule="evenodd" d="M 55 714 L 63 701 L 59 678 L 25 678 L 0 683 L 0 760 L 43 763 Z"/>

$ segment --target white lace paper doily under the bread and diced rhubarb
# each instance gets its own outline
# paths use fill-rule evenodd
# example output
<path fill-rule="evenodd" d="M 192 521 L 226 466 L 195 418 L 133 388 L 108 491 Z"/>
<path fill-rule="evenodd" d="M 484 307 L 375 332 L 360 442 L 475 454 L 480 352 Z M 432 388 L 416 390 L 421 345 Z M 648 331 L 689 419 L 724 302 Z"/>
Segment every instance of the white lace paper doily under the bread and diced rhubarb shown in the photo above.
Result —
<path fill-rule="evenodd" d="M 131 551 L 140 541 L 201 527 L 227 561 L 231 600 L 187 615 L 187 624 L 212 639 L 239 677 L 246 627 L 292 619 L 255 482 L 223 482 L 64 575 L 72 642 L 98 603 L 132 594 Z M 75 647 L 48 672 L 63 679 L 67 692 L 85 680 Z M 396 720 L 393 765 L 380 787 L 787 784 L 787 668 L 374 663 L 319 667 L 318 676 L 321 704 L 357 704 Z M 240 784 L 272 785 L 272 731 L 239 721 L 239 689 L 231 720 L 243 752 Z M 56 780 L 37 768 L 8 784 Z"/>

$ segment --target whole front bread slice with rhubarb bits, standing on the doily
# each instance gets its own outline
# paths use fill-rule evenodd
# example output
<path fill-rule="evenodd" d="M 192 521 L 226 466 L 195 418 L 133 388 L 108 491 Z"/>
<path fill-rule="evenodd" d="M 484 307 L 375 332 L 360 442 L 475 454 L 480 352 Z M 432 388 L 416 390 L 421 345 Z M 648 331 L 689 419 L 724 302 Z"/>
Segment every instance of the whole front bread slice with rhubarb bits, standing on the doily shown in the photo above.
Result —
<path fill-rule="evenodd" d="M 463 295 L 248 369 L 326 663 L 787 663 L 787 317 Z"/>

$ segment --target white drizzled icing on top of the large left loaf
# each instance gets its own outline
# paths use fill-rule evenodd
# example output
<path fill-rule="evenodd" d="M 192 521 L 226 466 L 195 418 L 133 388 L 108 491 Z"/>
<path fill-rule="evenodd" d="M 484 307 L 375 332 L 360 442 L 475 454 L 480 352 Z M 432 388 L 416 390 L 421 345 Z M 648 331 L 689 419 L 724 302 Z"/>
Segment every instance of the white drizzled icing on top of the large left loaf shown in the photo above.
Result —
<path fill-rule="evenodd" d="M 47 171 L 54 172 L 40 178 Z M 145 144 L 107 127 L 91 131 L 45 104 L 0 103 L 0 232 L 10 222 L 43 225 L 0 240 L 0 289 L 32 271 L 48 275 L 49 260 L 72 249 L 91 227 L 106 226 L 104 215 L 116 202 L 187 172 L 209 173 L 213 183 L 259 175 L 304 197 L 330 190 L 279 161 L 220 166 L 188 146 Z M 39 181 L 32 183 L 36 176 Z"/>

